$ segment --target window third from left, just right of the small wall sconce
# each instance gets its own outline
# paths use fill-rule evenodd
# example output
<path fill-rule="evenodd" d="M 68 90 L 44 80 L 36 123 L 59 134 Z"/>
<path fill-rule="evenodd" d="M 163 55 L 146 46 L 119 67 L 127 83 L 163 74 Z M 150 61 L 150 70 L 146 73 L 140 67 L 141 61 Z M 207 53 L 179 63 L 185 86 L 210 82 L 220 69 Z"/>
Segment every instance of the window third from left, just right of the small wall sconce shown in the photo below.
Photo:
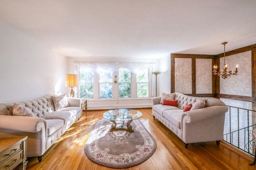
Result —
<path fill-rule="evenodd" d="M 131 97 L 131 72 L 125 68 L 118 70 L 119 98 Z"/>

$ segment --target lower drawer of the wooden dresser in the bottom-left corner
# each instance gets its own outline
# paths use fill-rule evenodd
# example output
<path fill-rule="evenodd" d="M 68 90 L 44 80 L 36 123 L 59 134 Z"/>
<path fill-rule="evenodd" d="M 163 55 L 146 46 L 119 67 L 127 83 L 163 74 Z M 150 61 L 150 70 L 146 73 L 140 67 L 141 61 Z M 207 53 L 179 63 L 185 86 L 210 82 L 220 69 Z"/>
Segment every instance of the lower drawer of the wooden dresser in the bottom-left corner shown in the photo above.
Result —
<path fill-rule="evenodd" d="M 15 152 L 6 162 L 0 164 L 0 170 L 10 170 L 22 162 L 22 150 Z"/>

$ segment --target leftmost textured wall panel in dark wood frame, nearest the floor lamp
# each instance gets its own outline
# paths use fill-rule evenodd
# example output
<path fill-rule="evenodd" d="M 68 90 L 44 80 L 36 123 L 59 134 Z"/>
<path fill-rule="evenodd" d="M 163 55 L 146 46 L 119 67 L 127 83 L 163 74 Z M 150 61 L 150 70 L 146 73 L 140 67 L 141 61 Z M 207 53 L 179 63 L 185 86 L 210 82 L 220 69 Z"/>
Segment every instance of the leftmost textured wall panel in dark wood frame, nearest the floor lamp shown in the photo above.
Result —
<path fill-rule="evenodd" d="M 175 92 L 192 94 L 192 59 L 175 58 Z"/>

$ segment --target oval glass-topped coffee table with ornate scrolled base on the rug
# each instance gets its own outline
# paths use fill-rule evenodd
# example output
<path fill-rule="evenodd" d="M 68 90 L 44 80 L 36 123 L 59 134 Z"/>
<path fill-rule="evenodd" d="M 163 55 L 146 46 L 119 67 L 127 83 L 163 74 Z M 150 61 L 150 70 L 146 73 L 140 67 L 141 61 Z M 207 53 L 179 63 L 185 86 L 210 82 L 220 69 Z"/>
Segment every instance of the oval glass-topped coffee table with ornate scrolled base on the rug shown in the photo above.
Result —
<path fill-rule="evenodd" d="M 133 109 L 114 109 L 109 110 L 103 113 L 103 117 L 109 121 L 112 121 L 112 125 L 110 128 L 110 131 L 116 131 L 116 130 L 126 130 L 129 132 L 133 132 L 132 126 L 130 123 L 138 119 L 142 116 L 142 113 L 137 110 Z M 118 127 L 116 127 L 116 122 L 122 122 L 122 124 Z M 127 121 L 125 123 L 125 121 Z"/>

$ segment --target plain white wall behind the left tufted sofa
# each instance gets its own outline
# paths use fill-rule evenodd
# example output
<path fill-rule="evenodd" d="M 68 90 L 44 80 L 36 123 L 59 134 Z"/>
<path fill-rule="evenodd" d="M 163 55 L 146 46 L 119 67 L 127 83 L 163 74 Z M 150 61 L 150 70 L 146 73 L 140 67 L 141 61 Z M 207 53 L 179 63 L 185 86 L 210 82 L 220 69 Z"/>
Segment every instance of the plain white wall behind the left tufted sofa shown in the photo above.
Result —
<path fill-rule="evenodd" d="M 67 57 L 2 21 L 0 37 L 0 103 L 66 90 Z"/>

